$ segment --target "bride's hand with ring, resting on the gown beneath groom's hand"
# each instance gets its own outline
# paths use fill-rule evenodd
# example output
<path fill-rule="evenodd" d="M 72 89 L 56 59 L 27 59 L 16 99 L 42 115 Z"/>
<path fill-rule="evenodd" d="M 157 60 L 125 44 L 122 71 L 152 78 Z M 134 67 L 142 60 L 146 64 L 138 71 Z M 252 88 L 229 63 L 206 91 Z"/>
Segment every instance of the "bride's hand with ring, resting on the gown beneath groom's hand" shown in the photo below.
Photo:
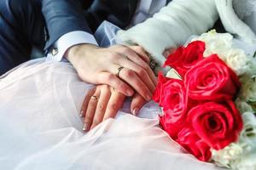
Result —
<path fill-rule="evenodd" d="M 99 123 L 114 118 L 125 101 L 125 95 L 120 94 L 108 85 L 97 85 L 86 94 L 80 116 L 84 117 L 84 131 L 89 131 Z M 146 103 L 139 94 L 131 100 L 131 112 L 137 115 Z"/>

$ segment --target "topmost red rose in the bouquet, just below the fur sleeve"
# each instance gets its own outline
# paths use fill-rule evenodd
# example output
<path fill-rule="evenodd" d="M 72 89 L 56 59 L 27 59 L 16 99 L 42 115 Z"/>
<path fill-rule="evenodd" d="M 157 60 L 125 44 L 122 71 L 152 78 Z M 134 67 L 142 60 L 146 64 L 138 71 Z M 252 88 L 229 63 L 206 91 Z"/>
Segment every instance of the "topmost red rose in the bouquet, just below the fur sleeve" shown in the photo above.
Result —
<path fill-rule="evenodd" d="M 170 54 L 164 66 L 171 66 L 181 77 L 184 77 L 186 72 L 189 71 L 196 62 L 203 59 L 205 49 L 205 42 L 190 42 L 187 47 L 179 47 L 173 54 Z"/>

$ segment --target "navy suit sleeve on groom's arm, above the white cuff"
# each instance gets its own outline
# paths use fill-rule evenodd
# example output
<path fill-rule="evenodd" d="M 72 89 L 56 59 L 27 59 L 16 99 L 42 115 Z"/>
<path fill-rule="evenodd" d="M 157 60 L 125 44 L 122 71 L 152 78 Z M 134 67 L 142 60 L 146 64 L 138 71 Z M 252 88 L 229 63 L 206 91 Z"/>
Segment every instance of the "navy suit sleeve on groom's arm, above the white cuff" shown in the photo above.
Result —
<path fill-rule="evenodd" d="M 91 33 L 79 0 L 41 0 L 41 3 L 49 33 L 45 49 L 67 32 L 86 31 Z"/>

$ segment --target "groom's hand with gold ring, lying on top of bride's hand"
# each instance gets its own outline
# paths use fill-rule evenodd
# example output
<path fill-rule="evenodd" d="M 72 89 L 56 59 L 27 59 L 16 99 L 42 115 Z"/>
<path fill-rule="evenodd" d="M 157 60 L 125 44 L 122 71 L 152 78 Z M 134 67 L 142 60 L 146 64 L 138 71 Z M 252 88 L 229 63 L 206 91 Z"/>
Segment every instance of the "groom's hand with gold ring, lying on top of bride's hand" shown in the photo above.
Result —
<path fill-rule="evenodd" d="M 143 48 L 79 44 L 69 48 L 66 56 L 84 82 L 108 84 L 127 96 L 135 90 L 144 99 L 151 99 L 156 79 Z"/>

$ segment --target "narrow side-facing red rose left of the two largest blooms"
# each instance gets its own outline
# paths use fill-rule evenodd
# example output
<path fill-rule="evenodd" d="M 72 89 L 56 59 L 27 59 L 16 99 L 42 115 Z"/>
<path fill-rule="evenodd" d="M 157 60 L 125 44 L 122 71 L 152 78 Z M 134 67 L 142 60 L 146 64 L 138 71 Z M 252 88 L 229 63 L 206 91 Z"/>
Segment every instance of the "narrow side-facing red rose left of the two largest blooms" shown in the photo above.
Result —
<path fill-rule="evenodd" d="M 160 116 L 161 126 L 176 138 L 187 116 L 188 102 L 183 81 L 171 79 L 163 85 L 160 105 L 164 111 L 164 116 Z"/>

